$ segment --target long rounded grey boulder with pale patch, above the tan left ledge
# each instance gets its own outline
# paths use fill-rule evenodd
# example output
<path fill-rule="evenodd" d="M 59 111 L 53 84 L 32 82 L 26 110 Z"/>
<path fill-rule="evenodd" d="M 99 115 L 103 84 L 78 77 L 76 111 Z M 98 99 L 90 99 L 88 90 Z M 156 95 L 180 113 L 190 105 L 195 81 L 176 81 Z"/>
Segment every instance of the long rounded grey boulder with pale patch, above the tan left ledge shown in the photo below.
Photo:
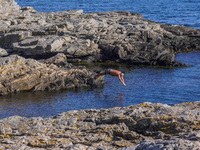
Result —
<path fill-rule="evenodd" d="M 65 53 L 70 62 L 94 62 L 100 57 L 98 45 L 90 40 L 77 39 L 72 36 L 49 36 L 46 38 L 29 38 L 12 45 L 13 50 L 26 57 L 45 56 L 47 54 Z M 95 56 L 91 58 L 90 56 Z M 98 60 L 98 59 L 97 59 Z"/>

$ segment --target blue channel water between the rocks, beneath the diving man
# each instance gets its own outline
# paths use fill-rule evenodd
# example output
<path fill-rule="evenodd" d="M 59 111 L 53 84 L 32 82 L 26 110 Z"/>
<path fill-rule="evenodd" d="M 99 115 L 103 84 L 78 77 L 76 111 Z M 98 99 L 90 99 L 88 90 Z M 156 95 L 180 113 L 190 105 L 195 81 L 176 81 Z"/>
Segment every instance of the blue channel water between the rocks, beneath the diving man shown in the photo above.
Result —
<path fill-rule="evenodd" d="M 0 98 L 0 118 L 12 115 L 49 117 L 74 109 L 123 107 L 146 101 L 170 105 L 199 101 L 199 58 L 200 52 L 178 54 L 177 60 L 190 67 L 176 69 L 106 66 L 126 72 L 126 87 L 117 77 L 108 75 L 102 88 L 3 96 Z"/>

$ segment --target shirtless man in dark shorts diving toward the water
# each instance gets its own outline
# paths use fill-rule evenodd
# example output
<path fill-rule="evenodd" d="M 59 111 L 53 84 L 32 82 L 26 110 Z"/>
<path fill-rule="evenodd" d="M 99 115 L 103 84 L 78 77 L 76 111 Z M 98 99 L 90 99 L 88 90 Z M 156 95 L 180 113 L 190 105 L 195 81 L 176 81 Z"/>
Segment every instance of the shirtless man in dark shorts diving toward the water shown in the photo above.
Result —
<path fill-rule="evenodd" d="M 118 71 L 118 70 L 114 70 L 114 69 L 106 69 L 104 72 L 101 72 L 97 75 L 95 75 L 95 79 L 97 79 L 99 76 L 103 76 L 103 75 L 106 75 L 106 74 L 110 74 L 112 76 L 118 76 L 119 80 L 122 82 L 122 84 L 124 86 L 126 86 L 126 84 L 124 83 L 124 78 L 123 78 L 123 73 L 121 71 Z"/>

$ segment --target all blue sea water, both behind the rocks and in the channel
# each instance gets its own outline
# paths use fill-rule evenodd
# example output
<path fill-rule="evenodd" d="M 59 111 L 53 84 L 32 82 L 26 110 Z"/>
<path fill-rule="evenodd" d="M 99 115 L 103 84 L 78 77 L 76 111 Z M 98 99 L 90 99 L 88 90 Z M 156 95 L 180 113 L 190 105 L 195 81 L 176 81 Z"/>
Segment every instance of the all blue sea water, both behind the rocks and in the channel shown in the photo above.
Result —
<path fill-rule="evenodd" d="M 83 9 L 85 13 L 124 10 L 166 24 L 200 29 L 198 0 L 16 0 L 37 11 Z M 0 118 L 13 115 L 49 117 L 68 110 L 125 107 L 142 102 L 169 105 L 200 100 L 200 52 L 177 54 L 187 68 L 150 68 L 130 65 L 96 65 L 99 70 L 125 71 L 124 87 L 117 77 L 106 76 L 104 87 L 78 91 L 19 93 L 0 97 Z M 93 66 L 94 67 L 94 66 Z"/>

